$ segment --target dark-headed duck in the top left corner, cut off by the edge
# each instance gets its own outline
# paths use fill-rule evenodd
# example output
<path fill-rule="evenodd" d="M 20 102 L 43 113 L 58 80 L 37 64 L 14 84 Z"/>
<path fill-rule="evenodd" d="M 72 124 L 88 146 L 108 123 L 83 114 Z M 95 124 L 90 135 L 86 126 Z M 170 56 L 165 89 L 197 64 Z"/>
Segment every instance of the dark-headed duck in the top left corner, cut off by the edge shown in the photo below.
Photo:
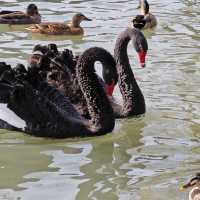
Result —
<path fill-rule="evenodd" d="M 0 12 L 0 24 L 35 24 L 41 22 L 41 16 L 35 4 L 29 4 L 26 13 L 21 11 Z"/>

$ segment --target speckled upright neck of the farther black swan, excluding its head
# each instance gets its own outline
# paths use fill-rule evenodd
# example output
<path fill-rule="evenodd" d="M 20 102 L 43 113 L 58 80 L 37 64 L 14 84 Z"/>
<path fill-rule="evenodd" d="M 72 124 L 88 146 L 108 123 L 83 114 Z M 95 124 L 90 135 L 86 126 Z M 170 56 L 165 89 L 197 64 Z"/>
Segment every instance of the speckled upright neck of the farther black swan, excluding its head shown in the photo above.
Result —
<path fill-rule="evenodd" d="M 138 29 L 127 28 L 117 38 L 114 57 L 119 76 L 119 88 L 123 96 L 122 117 L 145 113 L 143 94 L 132 72 L 127 47 L 130 40 L 136 40 Z"/>

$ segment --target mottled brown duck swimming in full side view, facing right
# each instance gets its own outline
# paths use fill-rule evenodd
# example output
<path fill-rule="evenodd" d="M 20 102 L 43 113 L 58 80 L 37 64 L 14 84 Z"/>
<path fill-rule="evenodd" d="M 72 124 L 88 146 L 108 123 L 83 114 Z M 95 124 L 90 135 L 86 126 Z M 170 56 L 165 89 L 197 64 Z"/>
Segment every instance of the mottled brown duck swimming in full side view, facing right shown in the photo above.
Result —
<path fill-rule="evenodd" d="M 70 24 L 59 22 L 45 22 L 35 24 L 34 26 L 26 28 L 33 33 L 41 33 L 48 35 L 82 35 L 84 33 L 83 28 L 80 26 L 82 21 L 91 21 L 82 13 L 75 14 L 72 17 Z"/>

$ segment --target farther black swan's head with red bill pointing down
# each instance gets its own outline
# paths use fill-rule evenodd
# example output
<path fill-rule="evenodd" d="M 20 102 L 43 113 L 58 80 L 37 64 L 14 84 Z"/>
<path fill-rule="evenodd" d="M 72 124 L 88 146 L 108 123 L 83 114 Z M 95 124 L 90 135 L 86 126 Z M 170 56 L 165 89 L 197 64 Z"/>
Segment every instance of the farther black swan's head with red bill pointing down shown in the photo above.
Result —
<path fill-rule="evenodd" d="M 145 67 L 146 54 L 148 51 L 147 40 L 145 36 L 143 35 L 143 33 L 137 28 L 134 29 L 134 36 L 135 37 L 132 40 L 133 46 L 138 54 L 141 67 Z"/>

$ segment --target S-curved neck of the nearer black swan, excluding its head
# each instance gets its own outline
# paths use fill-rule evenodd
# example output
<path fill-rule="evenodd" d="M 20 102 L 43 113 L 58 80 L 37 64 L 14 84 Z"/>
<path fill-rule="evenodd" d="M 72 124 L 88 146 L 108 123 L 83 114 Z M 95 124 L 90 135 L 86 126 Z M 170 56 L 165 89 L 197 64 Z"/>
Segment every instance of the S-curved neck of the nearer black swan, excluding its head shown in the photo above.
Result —
<path fill-rule="evenodd" d="M 106 50 L 98 47 L 90 48 L 79 57 L 76 76 L 91 117 L 90 129 L 96 134 L 105 134 L 112 131 L 115 119 L 108 97 L 95 74 L 96 61 L 107 66 L 115 65 L 113 57 Z"/>

